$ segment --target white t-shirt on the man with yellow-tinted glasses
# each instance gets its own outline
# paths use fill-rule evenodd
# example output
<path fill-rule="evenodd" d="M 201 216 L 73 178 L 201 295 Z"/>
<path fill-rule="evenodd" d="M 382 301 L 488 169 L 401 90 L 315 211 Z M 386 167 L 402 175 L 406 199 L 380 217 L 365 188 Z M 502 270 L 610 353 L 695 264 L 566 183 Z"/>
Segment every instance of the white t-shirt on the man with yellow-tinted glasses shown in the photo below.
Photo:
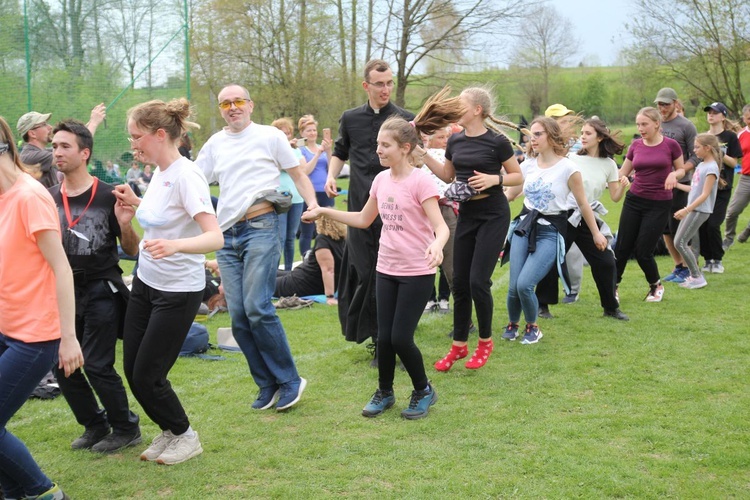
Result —
<path fill-rule="evenodd" d="M 279 188 L 281 169 L 299 167 L 284 132 L 252 122 L 242 132 L 224 128 L 211 136 L 195 163 L 208 182 L 221 186 L 217 212 L 222 231 L 240 220 L 261 192 Z"/>

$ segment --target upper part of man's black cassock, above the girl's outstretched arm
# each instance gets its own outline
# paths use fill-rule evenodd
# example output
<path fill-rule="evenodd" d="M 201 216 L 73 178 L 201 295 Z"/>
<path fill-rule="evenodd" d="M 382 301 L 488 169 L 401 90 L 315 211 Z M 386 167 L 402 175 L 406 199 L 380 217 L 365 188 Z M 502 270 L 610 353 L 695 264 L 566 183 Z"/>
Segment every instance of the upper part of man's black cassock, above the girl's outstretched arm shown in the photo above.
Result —
<path fill-rule="evenodd" d="M 370 197 L 372 180 L 385 170 L 376 153 L 378 132 L 383 122 L 392 115 L 412 120 L 414 114 L 392 102 L 376 113 L 369 102 L 358 108 L 344 111 L 339 120 L 339 138 L 333 147 L 333 156 L 349 160 L 348 210 L 359 212 Z"/>

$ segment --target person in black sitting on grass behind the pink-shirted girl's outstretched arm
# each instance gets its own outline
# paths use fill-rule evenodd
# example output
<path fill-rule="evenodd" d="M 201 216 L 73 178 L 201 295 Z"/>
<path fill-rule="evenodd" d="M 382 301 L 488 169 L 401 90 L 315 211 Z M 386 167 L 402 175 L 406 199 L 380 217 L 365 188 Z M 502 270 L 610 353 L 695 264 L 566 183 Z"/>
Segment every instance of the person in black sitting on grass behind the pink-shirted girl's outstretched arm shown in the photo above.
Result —
<path fill-rule="evenodd" d="M 305 297 L 325 294 L 326 304 L 335 306 L 338 305 L 335 293 L 346 244 L 346 226 L 323 216 L 315 221 L 315 229 L 318 237 L 315 238 L 312 252 L 291 271 L 276 274 L 274 295 Z"/>

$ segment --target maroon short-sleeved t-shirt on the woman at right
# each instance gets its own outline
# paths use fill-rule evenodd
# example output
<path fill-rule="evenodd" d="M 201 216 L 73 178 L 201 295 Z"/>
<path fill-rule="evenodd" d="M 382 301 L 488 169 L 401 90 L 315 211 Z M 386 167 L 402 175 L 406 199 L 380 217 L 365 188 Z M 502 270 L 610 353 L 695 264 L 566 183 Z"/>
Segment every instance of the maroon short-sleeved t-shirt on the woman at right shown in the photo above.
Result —
<path fill-rule="evenodd" d="M 671 200 L 672 190 L 664 189 L 664 183 L 674 170 L 673 162 L 681 157 L 679 143 L 669 137 L 656 146 L 646 146 L 643 139 L 634 140 L 627 154 L 635 172 L 630 192 L 647 200 Z"/>

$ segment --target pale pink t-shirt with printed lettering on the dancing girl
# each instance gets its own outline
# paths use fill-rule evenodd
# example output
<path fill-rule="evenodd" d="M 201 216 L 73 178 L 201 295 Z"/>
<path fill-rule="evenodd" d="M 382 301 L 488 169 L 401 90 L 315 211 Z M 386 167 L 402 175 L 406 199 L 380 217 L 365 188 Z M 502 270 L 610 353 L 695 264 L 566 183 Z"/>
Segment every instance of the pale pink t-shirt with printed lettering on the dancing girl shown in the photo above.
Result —
<path fill-rule="evenodd" d="M 386 170 L 372 181 L 370 196 L 377 201 L 383 221 L 375 269 L 391 276 L 435 274 L 424 258 L 435 232 L 422 208 L 425 200 L 439 197 L 432 179 L 415 168 L 406 179 L 394 181 Z"/>

